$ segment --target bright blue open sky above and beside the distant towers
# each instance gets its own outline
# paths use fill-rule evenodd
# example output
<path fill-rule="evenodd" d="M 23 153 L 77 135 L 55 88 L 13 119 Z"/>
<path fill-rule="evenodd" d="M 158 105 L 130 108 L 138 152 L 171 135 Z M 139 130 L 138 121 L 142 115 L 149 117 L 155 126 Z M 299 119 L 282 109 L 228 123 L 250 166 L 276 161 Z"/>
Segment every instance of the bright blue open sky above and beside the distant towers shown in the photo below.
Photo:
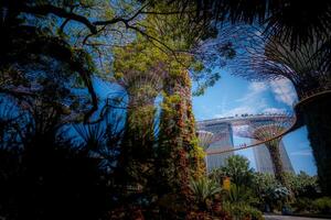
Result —
<path fill-rule="evenodd" d="M 193 112 L 197 121 L 235 114 L 292 112 L 296 91 L 287 79 L 257 82 L 232 76 L 229 69 L 221 70 L 221 79 L 203 96 L 193 97 Z M 234 136 L 234 145 L 245 140 Z M 307 129 L 302 127 L 282 139 L 296 173 L 317 174 Z M 236 151 L 246 156 L 255 168 L 253 150 Z"/>

